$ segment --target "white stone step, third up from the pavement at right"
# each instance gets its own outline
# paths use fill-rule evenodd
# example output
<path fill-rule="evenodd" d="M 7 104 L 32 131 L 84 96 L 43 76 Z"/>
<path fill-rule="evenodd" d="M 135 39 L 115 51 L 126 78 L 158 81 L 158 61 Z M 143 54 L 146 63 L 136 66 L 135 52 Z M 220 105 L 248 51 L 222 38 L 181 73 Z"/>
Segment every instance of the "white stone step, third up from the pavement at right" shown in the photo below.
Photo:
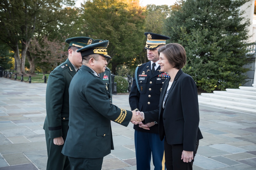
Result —
<path fill-rule="evenodd" d="M 210 98 L 219 98 L 231 101 L 238 101 L 238 102 L 247 102 L 256 105 L 256 99 L 248 99 L 243 97 L 234 97 L 234 96 L 226 96 L 221 94 L 214 94 L 214 93 L 201 93 L 202 96 L 210 97 Z"/>

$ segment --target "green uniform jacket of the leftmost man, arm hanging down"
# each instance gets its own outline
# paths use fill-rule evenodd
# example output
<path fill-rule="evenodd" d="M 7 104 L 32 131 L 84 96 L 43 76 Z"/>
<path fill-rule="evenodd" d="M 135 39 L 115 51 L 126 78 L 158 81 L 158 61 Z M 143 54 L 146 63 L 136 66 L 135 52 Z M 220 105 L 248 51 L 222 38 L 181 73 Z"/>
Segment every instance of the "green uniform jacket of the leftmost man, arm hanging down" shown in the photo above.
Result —
<path fill-rule="evenodd" d="M 43 129 L 50 138 L 66 138 L 69 120 L 69 84 L 76 71 L 67 59 L 49 75 L 46 87 L 46 118 Z"/>

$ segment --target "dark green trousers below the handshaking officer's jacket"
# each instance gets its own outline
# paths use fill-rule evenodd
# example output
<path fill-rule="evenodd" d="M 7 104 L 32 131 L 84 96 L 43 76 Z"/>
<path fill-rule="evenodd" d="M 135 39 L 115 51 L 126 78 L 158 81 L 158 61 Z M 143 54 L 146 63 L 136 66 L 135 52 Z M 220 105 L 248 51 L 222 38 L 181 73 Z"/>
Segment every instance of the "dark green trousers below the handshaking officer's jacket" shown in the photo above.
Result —
<path fill-rule="evenodd" d="M 101 170 L 103 157 L 96 159 L 73 158 L 68 156 L 71 170 Z"/>

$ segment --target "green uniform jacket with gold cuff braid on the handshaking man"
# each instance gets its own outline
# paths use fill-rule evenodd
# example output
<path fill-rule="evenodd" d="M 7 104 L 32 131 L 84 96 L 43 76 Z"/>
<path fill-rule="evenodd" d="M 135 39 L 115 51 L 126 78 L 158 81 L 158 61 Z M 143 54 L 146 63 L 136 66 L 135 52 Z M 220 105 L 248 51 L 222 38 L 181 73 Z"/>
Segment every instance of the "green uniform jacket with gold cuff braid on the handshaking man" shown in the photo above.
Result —
<path fill-rule="evenodd" d="M 62 154 L 102 158 L 111 151 L 111 121 L 128 126 L 132 112 L 111 104 L 102 79 L 82 65 L 70 83 L 69 127 Z"/>

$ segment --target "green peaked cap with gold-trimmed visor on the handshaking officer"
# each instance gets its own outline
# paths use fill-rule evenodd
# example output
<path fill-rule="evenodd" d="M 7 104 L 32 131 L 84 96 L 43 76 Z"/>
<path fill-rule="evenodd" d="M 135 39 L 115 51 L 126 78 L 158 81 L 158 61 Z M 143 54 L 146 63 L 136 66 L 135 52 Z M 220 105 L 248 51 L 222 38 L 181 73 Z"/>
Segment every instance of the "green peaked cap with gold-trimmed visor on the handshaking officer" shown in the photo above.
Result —
<path fill-rule="evenodd" d="M 88 56 L 92 54 L 100 54 L 104 57 L 111 58 L 107 53 L 109 41 L 103 41 L 99 43 L 93 43 L 77 50 L 81 53 L 81 56 Z"/>

